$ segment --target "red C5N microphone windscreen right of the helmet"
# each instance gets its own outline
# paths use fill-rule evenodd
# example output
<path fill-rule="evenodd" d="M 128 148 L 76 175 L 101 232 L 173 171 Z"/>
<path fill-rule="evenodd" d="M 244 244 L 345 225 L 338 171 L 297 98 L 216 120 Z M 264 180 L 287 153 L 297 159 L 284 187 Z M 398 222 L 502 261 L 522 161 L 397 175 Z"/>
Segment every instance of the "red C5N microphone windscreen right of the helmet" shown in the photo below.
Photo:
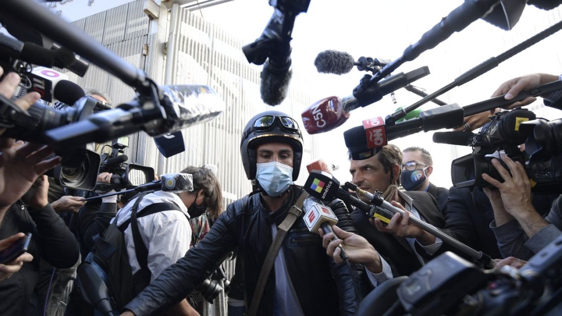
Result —
<path fill-rule="evenodd" d="M 328 132 L 341 126 L 349 117 L 338 97 L 323 98 L 301 113 L 302 124 L 309 134 Z"/>

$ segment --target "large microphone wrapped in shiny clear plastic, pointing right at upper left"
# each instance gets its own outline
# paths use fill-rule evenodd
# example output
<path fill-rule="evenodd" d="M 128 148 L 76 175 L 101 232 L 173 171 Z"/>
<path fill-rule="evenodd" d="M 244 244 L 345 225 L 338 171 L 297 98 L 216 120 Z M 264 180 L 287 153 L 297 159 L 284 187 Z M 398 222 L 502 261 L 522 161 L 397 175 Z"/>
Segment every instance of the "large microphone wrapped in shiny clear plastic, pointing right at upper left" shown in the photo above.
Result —
<path fill-rule="evenodd" d="M 141 97 L 116 109 L 50 129 L 46 132 L 47 142 L 54 147 L 103 143 L 140 130 L 150 136 L 161 136 L 215 119 L 225 109 L 223 100 L 207 85 L 164 85 L 160 92 L 161 106 L 155 107 Z"/>

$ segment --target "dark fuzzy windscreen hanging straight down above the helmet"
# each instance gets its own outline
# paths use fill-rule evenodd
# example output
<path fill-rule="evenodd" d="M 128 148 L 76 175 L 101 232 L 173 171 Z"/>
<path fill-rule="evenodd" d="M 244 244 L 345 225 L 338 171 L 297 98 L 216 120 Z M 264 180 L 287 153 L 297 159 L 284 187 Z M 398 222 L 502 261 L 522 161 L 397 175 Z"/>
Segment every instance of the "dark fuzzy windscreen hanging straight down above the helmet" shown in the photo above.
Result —
<path fill-rule="evenodd" d="M 261 70 L 260 94 L 261 100 L 268 105 L 279 105 L 285 97 L 293 71 L 275 71 L 269 64 L 269 60 L 265 61 L 264 68 Z"/>

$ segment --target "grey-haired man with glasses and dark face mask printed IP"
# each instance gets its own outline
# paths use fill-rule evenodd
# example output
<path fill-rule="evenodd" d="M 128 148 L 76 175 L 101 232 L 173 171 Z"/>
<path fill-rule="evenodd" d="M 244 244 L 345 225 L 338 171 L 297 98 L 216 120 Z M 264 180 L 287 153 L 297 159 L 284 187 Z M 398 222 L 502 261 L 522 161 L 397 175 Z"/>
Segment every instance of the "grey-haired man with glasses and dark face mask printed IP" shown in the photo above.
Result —
<path fill-rule="evenodd" d="M 445 216 L 449 190 L 429 182 L 433 173 L 433 159 L 429 151 L 422 147 L 408 147 L 402 156 L 400 182 L 406 191 L 425 191 L 437 200 L 439 211 Z"/>

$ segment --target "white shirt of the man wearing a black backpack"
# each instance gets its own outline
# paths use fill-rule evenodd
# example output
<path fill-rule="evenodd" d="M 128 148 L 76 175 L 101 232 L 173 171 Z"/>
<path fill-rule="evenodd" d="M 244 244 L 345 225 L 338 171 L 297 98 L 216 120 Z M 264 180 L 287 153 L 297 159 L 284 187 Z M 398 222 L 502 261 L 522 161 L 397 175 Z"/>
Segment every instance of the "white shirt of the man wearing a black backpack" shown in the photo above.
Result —
<path fill-rule="evenodd" d="M 119 210 L 115 216 L 118 226 L 131 217 L 131 208 L 136 200 L 135 198 L 129 201 Z M 144 207 L 160 202 L 173 202 L 182 211 L 161 211 L 137 219 L 140 237 L 148 250 L 147 265 L 151 272 L 151 282 L 167 267 L 182 258 L 191 243 L 191 226 L 189 225 L 187 207 L 175 193 L 157 191 L 144 196 L 137 207 L 137 214 Z M 112 219 L 112 222 L 114 219 Z M 140 270 L 140 265 L 137 261 L 130 224 L 125 229 L 124 237 L 129 263 L 133 268 L 133 273 L 136 273 Z"/>

